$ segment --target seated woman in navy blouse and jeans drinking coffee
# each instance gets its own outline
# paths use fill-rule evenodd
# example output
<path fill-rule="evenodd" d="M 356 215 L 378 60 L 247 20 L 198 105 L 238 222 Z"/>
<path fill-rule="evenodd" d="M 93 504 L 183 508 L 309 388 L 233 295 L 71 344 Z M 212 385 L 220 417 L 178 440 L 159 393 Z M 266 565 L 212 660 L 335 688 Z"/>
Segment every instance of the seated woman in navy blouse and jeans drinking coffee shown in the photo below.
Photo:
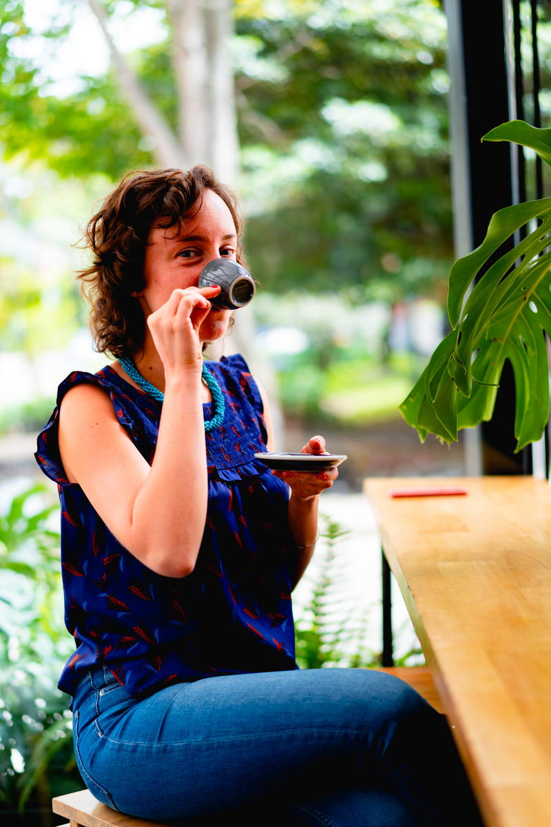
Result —
<path fill-rule="evenodd" d="M 117 361 L 61 383 L 36 454 L 62 505 L 78 767 L 150 819 L 476 824 L 445 721 L 415 691 L 297 669 L 290 594 L 337 471 L 268 471 L 245 362 L 203 362 L 230 312 L 198 276 L 240 261 L 240 233 L 201 166 L 127 176 L 88 225 L 92 328 Z"/>

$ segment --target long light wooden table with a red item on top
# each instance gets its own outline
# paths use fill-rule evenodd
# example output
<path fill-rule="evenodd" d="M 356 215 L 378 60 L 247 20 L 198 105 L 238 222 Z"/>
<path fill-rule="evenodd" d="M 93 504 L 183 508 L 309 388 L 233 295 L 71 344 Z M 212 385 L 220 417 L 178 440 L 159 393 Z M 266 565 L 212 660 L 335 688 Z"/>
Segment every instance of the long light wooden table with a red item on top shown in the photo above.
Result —
<path fill-rule="evenodd" d="M 388 490 L 463 485 L 466 496 Z M 364 491 L 488 827 L 551 825 L 551 488 L 531 476 Z"/>

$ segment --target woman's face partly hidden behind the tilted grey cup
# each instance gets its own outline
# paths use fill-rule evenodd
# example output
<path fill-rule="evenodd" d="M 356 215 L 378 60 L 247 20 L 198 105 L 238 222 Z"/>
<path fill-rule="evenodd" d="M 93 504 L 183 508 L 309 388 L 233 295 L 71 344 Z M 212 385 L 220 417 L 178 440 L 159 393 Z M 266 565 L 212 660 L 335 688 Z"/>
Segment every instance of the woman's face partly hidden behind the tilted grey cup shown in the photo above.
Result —
<path fill-rule="evenodd" d="M 237 235 L 230 210 L 211 189 L 202 194 L 198 213 L 176 227 L 153 227 L 144 256 L 144 289 L 140 304 L 145 318 L 161 307 L 175 288 L 197 287 L 203 267 L 212 259 L 235 261 Z M 230 310 L 211 308 L 199 328 L 202 342 L 221 338 Z"/>

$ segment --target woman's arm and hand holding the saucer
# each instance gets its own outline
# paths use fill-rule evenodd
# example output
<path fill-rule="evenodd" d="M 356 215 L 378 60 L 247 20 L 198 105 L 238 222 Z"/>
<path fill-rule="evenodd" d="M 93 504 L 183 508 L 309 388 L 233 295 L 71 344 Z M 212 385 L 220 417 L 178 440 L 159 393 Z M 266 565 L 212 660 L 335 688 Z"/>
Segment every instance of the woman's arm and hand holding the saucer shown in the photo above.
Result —
<path fill-rule="evenodd" d="M 257 382 L 257 385 L 259 383 Z M 268 399 L 264 389 L 259 385 L 260 395 L 264 404 L 264 421 L 268 431 L 268 451 L 273 451 L 273 425 Z M 322 454 L 325 452 L 324 437 L 312 437 L 302 447 L 302 452 L 308 454 Z M 321 491 L 330 488 L 335 482 L 339 471 L 331 468 L 330 471 L 321 471 L 316 474 L 293 471 L 272 471 L 273 476 L 285 480 L 291 489 L 288 505 L 289 526 L 292 537 L 297 543 L 294 566 L 292 568 L 292 588 L 306 571 L 308 563 L 314 554 L 318 536 L 318 502 Z"/>

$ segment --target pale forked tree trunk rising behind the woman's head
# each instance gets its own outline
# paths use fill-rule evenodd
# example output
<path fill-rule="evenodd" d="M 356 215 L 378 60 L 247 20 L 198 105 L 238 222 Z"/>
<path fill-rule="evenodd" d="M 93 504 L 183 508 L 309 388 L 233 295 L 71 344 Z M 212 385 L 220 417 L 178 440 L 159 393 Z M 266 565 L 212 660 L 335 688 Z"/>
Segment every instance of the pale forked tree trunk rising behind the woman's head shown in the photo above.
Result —
<path fill-rule="evenodd" d="M 140 5 L 140 2 L 134 2 Z M 156 5 L 159 5 L 158 3 Z M 142 84 L 140 74 L 116 45 L 109 7 L 88 0 L 109 47 L 116 81 L 135 123 L 161 166 L 188 168 L 205 162 L 221 179 L 235 180 L 237 134 L 228 44 L 233 31 L 230 0 L 165 0 L 169 27 L 175 127 Z"/>

